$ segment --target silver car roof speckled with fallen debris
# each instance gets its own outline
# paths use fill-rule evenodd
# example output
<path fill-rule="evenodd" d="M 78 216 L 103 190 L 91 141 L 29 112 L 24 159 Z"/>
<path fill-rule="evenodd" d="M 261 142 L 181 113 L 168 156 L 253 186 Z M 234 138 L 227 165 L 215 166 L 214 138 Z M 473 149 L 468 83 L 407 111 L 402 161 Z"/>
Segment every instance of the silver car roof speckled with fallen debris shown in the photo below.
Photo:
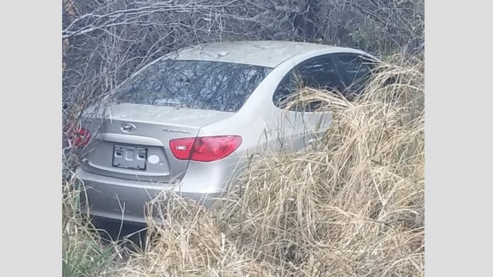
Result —
<path fill-rule="evenodd" d="M 173 60 L 193 60 L 250 64 L 274 68 L 288 58 L 304 53 L 362 51 L 316 43 L 288 41 L 238 41 L 205 43 L 177 51 Z"/>

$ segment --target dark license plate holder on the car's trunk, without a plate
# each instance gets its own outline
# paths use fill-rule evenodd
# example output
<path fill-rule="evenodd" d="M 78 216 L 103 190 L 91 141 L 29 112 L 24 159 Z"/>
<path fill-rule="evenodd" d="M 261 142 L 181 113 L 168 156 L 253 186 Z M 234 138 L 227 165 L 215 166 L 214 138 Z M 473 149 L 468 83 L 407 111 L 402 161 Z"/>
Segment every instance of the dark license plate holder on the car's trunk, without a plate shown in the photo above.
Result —
<path fill-rule="evenodd" d="M 131 145 L 113 145 L 113 167 L 146 170 L 147 148 Z"/>

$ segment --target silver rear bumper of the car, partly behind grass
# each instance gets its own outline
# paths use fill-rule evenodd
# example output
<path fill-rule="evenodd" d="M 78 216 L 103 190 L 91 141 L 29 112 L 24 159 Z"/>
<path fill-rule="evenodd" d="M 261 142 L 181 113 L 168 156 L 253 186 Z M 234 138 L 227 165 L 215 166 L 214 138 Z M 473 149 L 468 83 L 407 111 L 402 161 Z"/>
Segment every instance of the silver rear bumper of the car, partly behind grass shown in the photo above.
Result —
<path fill-rule="evenodd" d="M 81 211 L 90 216 L 111 220 L 146 223 L 147 207 L 154 200 L 157 208 L 169 194 L 174 193 L 195 201 L 203 206 L 210 206 L 220 193 L 194 193 L 178 191 L 176 185 L 156 184 L 133 180 L 123 180 L 97 175 L 78 168 L 75 171 L 82 182 Z M 154 208 L 154 216 L 158 217 Z"/>

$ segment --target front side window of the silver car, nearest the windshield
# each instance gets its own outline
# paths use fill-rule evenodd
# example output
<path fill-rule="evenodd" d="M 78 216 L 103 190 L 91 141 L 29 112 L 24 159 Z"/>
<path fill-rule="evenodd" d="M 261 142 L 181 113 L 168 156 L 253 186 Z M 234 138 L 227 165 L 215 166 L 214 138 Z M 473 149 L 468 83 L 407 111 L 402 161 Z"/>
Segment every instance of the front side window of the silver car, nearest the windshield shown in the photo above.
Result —
<path fill-rule="evenodd" d="M 343 76 L 343 82 L 347 88 L 344 95 L 361 94 L 371 76 L 373 63 L 355 54 L 340 54 L 337 55 L 336 60 L 337 68 Z"/>

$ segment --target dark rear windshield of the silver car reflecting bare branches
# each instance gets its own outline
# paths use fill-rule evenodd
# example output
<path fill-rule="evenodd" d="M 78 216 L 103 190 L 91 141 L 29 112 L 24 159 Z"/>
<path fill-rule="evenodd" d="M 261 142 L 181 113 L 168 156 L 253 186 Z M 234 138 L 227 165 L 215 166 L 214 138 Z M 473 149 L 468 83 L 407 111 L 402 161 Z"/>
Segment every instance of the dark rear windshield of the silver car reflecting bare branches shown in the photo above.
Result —
<path fill-rule="evenodd" d="M 163 60 L 117 93 L 123 103 L 237 112 L 271 68 L 207 61 Z"/>

